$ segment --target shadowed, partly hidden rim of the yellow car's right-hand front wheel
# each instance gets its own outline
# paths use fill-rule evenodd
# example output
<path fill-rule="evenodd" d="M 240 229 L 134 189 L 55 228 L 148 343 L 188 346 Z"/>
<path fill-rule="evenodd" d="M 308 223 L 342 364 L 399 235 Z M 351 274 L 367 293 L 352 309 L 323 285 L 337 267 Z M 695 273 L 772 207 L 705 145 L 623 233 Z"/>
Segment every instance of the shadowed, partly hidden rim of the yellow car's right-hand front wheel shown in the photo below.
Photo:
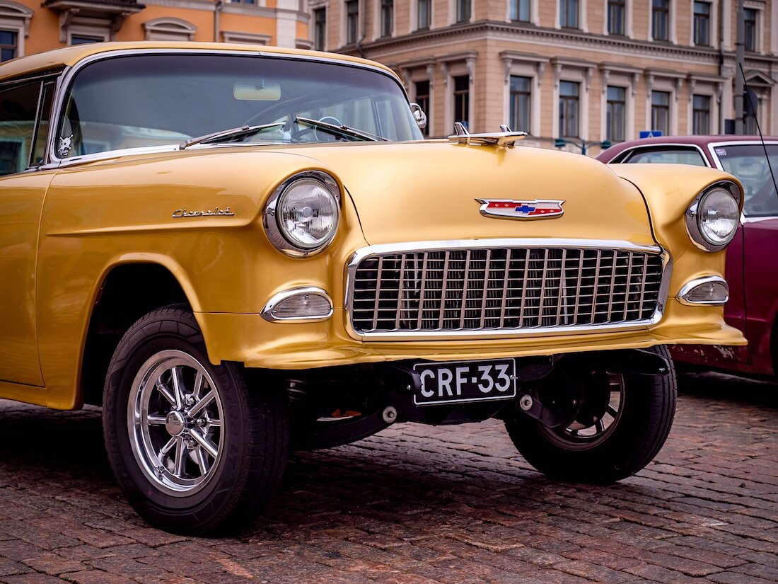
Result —
<path fill-rule="evenodd" d="M 548 428 L 541 431 L 556 445 L 567 450 L 588 450 L 601 444 L 619 425 L 624 407 L 624 376 L 608 373 L 608 403 L 597 416 L 589 420 L 574 420 L 566 427 Z"/>

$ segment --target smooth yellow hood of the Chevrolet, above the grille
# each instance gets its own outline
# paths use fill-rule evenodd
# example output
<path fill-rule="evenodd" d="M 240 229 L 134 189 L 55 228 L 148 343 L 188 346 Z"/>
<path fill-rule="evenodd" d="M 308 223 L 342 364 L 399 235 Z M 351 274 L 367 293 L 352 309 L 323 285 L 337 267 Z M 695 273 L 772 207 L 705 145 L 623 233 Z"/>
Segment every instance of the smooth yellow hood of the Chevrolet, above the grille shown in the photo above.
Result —
<path fill-rule="evenodd" d="M 640 192 L 580 154 L 443 141 L 301 150 L 289 152 L 319 160 L 342 180 L 371 245 L 500 237 L 656 245 Z M 553 199 L 564 212 L 496 218 L 482 215 L 478 199 Z"/>

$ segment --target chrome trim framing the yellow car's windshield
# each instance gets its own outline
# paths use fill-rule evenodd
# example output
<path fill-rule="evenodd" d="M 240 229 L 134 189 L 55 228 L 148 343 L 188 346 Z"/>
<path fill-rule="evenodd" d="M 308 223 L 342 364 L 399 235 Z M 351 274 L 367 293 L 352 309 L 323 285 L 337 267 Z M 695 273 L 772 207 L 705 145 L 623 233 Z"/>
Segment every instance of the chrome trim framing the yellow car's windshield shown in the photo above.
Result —
<path fill-rule="evenodd" d="M 86 67 L 87 65 L 91 65 L 95 62 L 103 61 L 110 58 L 129 57 L 135 55 L 239 55 L 244 57 L 277 58 L 277 59 L 286 59 L 286 60 L 294 60 L 294 61 L 310 61 L 310 62 L 327 63 L 329 65 L 341 65 L 344 67 L 355 67 L 356 69 L 366 69 L 369 71 L 380 73 L 381 75 L 388 77 L 389 79 L 394 81 L 394 83 L 400 88 L 402 94 L 405 96 L 405 101 L 408 102 L 408 92 L 405 90 L 405 87 L 402 85 L 402 83 L 400 83 L 397 77 L 391 75 L 391 73 L 385 71 L 384 69 L 381 69 L 380 67 L 376 67 L 368 63 L 341 61 L 338 58 L 320 57 L 317 55 L 289 55 L 283 52 L 275 53 L 272 51 L 250 51 L 244 49 L 240 49 L 237 51 L 228 51 L 224 49 L 208 50 L 202 48 L 155 47 L 155 48 L 147 48 L 147 49 L 117 49 L 115 51 L 105 51 L 101 53 L 95 53 L 93 55 L 89 55 L 88 57 L 82 58 L 79 62 L 75 63 L 75 65 L 67 66 L 65 67 L 65 69 L 62 70 L 58 79 L 57 88 L 54 94 L 54 103 L 52 104 L 52 109 L 51 109 L 51 114 L 52 114 L 51 120 L 54 121 L 54 123 L 49 124 L 47 160 L 45 161 L 45 164 L 39 168 L 65 167 L 65 166 L 69 166 L 70 164 L 93 162 L 95 160 L 107 160 L 110 158 L 117 158 L 120 156 L 131 156 L 134 154 L 159 153 L 159 152 L 176 152 L 177 150 L 180 150 L 178 143 L 176 143 L 176 144 L 171 144 L 170 146 L 168 145 L 142 146 L 140 148 L 132 148 L 132 149 L 107 150 L 105 152 L 85 154 L 81 157 L 72 157 L 72 158 L 60 158 L 57 155 L 57 149 L 55 147 L 57 142 L 56 137 L 59 131 L 59 122 L 61 118 L 61 113 L 65 106 L 65 95 L 66 93 L 68 93 L 72 81 L 75 78 L 75 76 L 78 74 L 78 72 L 84 67 Z M 265 145 L 254 144 L 254 146 L 265 146 Z"/>

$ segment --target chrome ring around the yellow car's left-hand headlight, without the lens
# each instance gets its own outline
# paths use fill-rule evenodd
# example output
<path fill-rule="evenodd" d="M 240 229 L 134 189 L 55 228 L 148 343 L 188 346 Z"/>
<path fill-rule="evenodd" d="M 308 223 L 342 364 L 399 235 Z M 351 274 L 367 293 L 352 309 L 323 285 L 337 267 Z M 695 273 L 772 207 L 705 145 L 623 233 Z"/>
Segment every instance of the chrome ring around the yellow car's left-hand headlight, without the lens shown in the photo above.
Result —
<path fill-rule="evenodd" d="M 317 186 L 324 187 L 325 191 L 332 197 L 332 209 L 334 209 L 333 227 L 326 237 L 322 237 L 314 245 L 303 245 L 289 235 L 283 227 L 280 218 L 280 209 L 283 205 L 285 196 L 289 194 L 289 189 L 300 181 L 314 181 Z M 286 179 L 281 185 L 275 188 L 265 204 L 265 212 L 262 216 L 262 224 L 265 227 L 265 233 L 272 243 L 273 247 L 289 257 L 307 258 L 311 255 L 317 255 L 324 251 L 330 245 L 335 234 L 338 233 L 340 225 L 340 212 L 342 204 L 341 189 L 338 181 L 330 174 L 324 171 L 303 171 Z"/>

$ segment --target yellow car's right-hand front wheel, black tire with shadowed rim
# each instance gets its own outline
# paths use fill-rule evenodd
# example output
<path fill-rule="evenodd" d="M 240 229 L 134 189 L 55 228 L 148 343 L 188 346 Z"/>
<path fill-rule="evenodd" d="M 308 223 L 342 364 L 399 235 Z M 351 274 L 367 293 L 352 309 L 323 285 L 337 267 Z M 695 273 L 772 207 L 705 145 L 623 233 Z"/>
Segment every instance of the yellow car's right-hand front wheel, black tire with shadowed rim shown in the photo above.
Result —
<path fill-rule="evenodd" d="M 548 477 L 589 484 L 611 484 L 650 463 L 668 438 L 678 393 L 667 348 L 651 350 L 667 359 L 668 375 L 594 372 L 608 383 L 612 398 L 608 413 L 596 422 L 593 419 L 589 431 L 579 423 L 545 427 L 519 412 L 507 419 L 508 434 L 527 463 Z"/>

